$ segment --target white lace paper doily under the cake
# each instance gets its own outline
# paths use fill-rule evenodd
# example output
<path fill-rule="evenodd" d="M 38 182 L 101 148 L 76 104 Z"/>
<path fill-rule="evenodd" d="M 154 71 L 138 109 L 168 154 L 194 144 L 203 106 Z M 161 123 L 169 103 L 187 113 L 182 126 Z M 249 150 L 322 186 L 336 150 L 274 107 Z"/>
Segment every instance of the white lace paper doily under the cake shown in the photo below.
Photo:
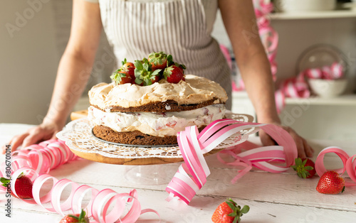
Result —
<path fill-rule="evenodd" d="M 236 121 L 251 121 L 251 116 L 245 114 L 230 114 L 232 119 Z M 78 151 L 83 153 L 96 153 L 108 158 L 117 159 L 137 159 L 137 158 L 182 158 L 182 153 L 179 151 L 179 146 L 172 147 L 157 147 L 144 148 L 137 146 L 117 146 L 111 143 L 99 141 L 92 134 L 92 129 L 95 126 L 88 119 L 76 119 L 70 121 L 56 136 L 65 141 L 70 150 L 75 153 Z M 224 142 L 214 150 L 229 148 L 247 140 L 248 135 L 256 132 L 256 128 L 240 131 L 237 134 L 227 138 Z M 78 155 L 78 153 L 75 153 Z M 93 155 L 93 154 L 91 154 Z M 78 155 L 80 156 L 80 155 Z"/>

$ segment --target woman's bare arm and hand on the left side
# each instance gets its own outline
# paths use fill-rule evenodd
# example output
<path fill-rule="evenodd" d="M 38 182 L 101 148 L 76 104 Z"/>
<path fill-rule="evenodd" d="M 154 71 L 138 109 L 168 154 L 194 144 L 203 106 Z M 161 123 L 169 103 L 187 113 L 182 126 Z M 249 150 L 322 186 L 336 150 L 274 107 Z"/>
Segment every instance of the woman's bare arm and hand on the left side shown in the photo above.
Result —
<path fill-rule="evenodd" d="M 70 38 L 58 66 L 51 104 L 43 123 L 11 139 L 11 149 L 55 138 L 83 93 L 90 77 L 100 40 L 102 23 L 99 4 L 73 1 Z"/>

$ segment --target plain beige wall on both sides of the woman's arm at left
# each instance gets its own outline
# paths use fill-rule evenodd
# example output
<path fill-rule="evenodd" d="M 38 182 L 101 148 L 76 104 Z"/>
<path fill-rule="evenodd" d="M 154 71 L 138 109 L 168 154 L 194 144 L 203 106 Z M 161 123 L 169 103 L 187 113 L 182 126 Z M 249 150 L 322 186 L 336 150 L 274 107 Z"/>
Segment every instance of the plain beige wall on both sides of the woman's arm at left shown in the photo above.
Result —
<path fill-rule="evenodd" d="M 6 9 L 0 13 L 0 123 L 40 124 L 68 43 L 72 0 L 3 0 L 0 9 Z M 110 81 L 114 61 L 103 34 L 83 94 L 98 82 Z"/>

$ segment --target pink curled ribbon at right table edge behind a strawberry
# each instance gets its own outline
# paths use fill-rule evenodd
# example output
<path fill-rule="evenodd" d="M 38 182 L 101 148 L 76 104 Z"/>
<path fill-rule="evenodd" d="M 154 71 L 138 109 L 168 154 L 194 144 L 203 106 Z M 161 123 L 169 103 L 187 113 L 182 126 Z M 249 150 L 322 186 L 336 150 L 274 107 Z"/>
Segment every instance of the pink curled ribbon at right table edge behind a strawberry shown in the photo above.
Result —
<path fill-rule="evenodd" d="M 344 151 L 342 148 L 339 147 L 330 146 L 320 151 L 315 161 L 316 173 L 318 173 L 318 175 L 321 176 L 323 175 L 323 173 L 327 171 L 324 165 L 324 156 L 327 153 L 335 153 L 337 156 L 340 157 L 342 161 L 343 167 L 339 169 L 335 169 L 334 171 L 339 173 L 340 175 L 343 175 L 345 172 L 347 172 L 347 175 L 349 175 L 351 180 L 354 182 L 354 183 L 350 183 L 345 181 L 345 186 L 347 187 L 356 186 L 356 159 L 354 160 L 356 155 L 350 157 L 346 153 L 346 151 Z"/>

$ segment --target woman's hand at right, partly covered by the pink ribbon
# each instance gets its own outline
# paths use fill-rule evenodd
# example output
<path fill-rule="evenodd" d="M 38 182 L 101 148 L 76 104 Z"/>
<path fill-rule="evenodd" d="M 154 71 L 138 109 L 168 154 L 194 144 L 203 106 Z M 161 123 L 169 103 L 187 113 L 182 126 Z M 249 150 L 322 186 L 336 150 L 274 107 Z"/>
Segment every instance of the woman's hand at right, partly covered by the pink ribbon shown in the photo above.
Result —
<path fill-rule="evenodd" d="M 284 130 L 288 131 L 290 136 L 292 136 L 292 138 L 294 139 L 295 144 L 297 146 L 297 149 L 298 149 L 298 157 L 307 158 L 307 157 L 313 156 L 314 150 L 313 150 L 313 148 L 310 147 L 310 145 L 305 140 L 305 138 L 299 136 L 293 129 L 291 129 L 288 126 L 281 126 L 281 124 L 276 124 L 276 123 L 273 123 L 273 124 L 280 126 Z M 259 133 L 260 133 L 260 138 L 261 138 L 261 142 L 262 142 L 263 146 L 276 145 L 276 142 L 273 141 L 273 138 L 271 138 L 271 136 L 268 136 L 268 134 L 266 134 L 265 131 L 259 131 Z"/>

